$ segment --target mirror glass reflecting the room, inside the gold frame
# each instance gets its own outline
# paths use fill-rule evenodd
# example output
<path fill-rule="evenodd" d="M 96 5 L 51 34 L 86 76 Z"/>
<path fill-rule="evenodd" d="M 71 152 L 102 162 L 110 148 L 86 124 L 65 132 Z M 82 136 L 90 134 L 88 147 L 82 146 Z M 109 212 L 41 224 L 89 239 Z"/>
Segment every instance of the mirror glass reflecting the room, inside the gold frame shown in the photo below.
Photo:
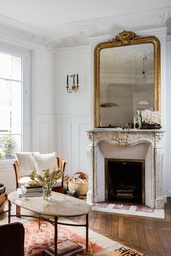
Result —
<path fill-rule="evenodd" d="M 102 49 L 99 71 L 102 125 L 125 127 L 137 110 L 154 110 L 153 44 Z"/>

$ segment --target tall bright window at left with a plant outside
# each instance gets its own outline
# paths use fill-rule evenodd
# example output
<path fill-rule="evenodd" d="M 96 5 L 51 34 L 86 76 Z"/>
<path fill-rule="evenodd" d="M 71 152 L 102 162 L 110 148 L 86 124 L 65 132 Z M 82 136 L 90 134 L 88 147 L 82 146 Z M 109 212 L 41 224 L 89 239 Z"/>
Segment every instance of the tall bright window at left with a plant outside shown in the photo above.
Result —
<path fill-rule="evenodd" d="M 23 70 L 27 66 L 25 65 L 27 61 L 22 51 L 16 54 L 12 51 L 1 51 L 0 48 L 0 152 L 4 157 L 10 155 L 10 152 L 9 154 L 5 152 L 3 138 L 5 140 L 12 136 L 13 153 L 23 149 L 23 135 L 29 111 L 29 106 L 25 110 L 23 107 L 28 101 L 25 96 L 28 94 L 27 84 L 25 83 L 24 86 L 23 83 L 25 79 Z"/>

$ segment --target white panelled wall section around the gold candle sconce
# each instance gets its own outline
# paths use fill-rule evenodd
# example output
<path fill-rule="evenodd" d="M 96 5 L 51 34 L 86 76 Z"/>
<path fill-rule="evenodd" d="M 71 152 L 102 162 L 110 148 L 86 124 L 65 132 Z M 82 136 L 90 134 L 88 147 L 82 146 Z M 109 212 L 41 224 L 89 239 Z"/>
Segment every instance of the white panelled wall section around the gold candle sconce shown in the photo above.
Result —
<path fill-rule="evenodd" d="M 59 156 L 67 158 L 66 174 L 88 173 L 86 130 L 91 128 L 92 83 L 89 46 L 64 49 L 54 59 L 54 140 Z M 79 75 L 78 93 L 66 90 L 67 75 Z M 71 86 L 72 80 L 69 79 Z"/>

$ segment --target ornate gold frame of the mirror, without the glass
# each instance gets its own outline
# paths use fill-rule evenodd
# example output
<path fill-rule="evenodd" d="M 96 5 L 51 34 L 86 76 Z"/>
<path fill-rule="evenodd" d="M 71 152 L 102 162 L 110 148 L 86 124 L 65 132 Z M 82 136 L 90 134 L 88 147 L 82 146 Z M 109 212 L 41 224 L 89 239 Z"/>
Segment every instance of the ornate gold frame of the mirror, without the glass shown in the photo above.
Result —
<path fill-rule="evenodd" d="M 130 46 L 135 44 L 153 44 L 154 45 L 154 110 L 161 110 L 161 59 L 160 42 L 155 36 L 138 36 L 132 31 L 122 31 L 110 41 L 99 43 L 94 49 L 94 128 L 99 128 L 99 83 L 100 83 L 100 51 L 101 49 Z"/>

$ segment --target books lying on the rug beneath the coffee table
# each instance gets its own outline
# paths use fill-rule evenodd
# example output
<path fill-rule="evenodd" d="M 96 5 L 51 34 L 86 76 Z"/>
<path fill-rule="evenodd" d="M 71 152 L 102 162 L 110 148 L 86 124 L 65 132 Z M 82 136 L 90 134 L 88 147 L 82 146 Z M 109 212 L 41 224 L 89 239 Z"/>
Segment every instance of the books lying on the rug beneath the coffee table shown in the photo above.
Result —
<path fill-rule="evenodd" d="M 77 252 L 81 252 L 82 250 L 83 247 L 81 247 L 80 244 L 76 244 L 74 241 L 71 241 L 70 239 L 66 239 L 57 244 L 58 256 L 70 256 L 74 255 Z M 46 247 L 44 249 L 44 252 L 46 252 L 47 255 L 54 256 L 54 245 Z"/>

